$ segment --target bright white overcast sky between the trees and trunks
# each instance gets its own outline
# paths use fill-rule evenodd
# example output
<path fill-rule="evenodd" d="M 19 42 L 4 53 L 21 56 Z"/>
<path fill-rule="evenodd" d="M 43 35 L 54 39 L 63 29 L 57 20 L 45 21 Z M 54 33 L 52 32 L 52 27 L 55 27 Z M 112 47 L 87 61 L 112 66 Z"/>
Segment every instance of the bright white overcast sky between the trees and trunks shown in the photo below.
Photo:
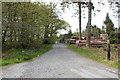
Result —
<path fill-rule="evenodd" d="M 31 0 L 31 1 L 34 1 L 34 0 Z M 75 13 L 77 13 L 75 9 L 78 9 L 78 7 L 76 7 L 75 4 L 70 5 L 69 9 L 66 8 L 65 11 L 63 12 L 62 10 L 60 10 L 60 7 L 59 7 L 60 6 L 59 3 L 61 2 L 60 0 L 38 0 L 38 1 L 57 3 L 58 4 L 57 8 L 61 12 L 61 19 L 64 19 L 71 25 L 72 32 L 76 32 L 76 29 L 79 28 L 78 15 L 75 15 Z M 104 5 L 98 4 L 98 1 L 102 1 Z M 112 16 L 114 13 L 112 12 L 107 0 L 92 0 L 92 2 L 93 2 L 93 5 L 95 6 L 94 11 L 92 11 L 92 25 L 97 25 L 99 28 L 102 28 L 103 21 L 105 20 L 105 17 L 106 17 L 106 13 L 108 12 L 110 15 L 110 18 L 114 23 L 114 27 L 118 27 L 117 18 Z M 101 11 L 97 12 L 97 10 L 101 10 Z M 87 19 L 88 9 L 82 8 L 82 14 L 85 14 L 85 15 L 82 15 L 82 30 L 84 30 L 86 28 L 86 24 L 88 21 Z M 61 31 L 61 33 L 65 33 L 65 31 Z"/>

